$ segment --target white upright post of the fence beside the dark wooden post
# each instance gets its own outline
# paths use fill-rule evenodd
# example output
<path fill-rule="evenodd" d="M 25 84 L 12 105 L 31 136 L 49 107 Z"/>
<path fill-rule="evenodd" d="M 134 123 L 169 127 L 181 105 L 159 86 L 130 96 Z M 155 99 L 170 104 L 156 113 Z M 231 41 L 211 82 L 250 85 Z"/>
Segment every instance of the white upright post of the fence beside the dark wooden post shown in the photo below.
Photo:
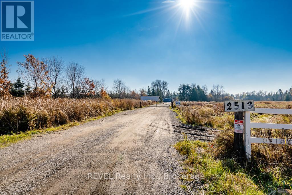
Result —
<path fill-rule="evenodd" d="M 246 158 L 251 158 L 251 113 L 244 112 L 244 146 Z"/>

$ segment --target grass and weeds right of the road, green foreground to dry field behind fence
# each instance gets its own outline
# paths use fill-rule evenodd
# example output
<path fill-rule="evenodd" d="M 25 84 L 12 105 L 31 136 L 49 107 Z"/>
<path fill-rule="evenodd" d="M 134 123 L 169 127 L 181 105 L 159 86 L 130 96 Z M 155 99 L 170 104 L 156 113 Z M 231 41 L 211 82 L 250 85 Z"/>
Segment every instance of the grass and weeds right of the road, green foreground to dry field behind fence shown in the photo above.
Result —
<path fill-rule="evenodd" d="M 256 108 L 291 109 L 288 101 L 256 101 Z M 174 109 L 183 123 L 219 129 L 212 143 L 185 139 L 175 145 L 188 156 L 187 173 L 208 175 L 206 194 L 279 194 L 292 190 L 291 145 L 252 144 L 252 159 L 234 158 L 234 113 L 222 102 L 182 102 Z M 252 122 L 292 124 L 292 115 L 251 114 Z M 255 137 L 292 139 L 292 130 L 252 129 Z"/>

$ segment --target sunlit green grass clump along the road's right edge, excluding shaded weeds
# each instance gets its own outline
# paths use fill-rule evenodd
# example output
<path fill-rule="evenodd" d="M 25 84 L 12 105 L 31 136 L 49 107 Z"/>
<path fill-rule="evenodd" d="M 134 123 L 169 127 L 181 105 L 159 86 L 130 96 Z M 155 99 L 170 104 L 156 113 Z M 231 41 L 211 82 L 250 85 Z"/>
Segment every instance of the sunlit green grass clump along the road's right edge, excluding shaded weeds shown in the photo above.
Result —
<path fill-rule="evenodd" d="M 185 174 L 201 174 L 205 194 L 264 194 L 246 170 L 232 159 L 218 160 L 212 156 L 212 146 L 206 142 L 190 141 L 187 136 L 174 145 L 181 154 L 187 155 Z"/>

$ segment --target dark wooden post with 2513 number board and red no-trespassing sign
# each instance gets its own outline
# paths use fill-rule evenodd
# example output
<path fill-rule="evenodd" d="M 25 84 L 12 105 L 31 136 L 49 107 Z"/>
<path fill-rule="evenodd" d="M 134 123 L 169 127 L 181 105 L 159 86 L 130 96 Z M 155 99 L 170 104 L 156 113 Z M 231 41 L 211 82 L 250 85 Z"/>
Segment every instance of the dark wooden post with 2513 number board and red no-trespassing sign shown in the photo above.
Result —
<path fill-rule="evenodd" d="M 253 100 L 232 100 L 224 101 L 225 112 L 234 112 L 234 151 L 239 158 L 245 157 L 245 146 L 243 135 L 244 112 L 255 111 Z"/>

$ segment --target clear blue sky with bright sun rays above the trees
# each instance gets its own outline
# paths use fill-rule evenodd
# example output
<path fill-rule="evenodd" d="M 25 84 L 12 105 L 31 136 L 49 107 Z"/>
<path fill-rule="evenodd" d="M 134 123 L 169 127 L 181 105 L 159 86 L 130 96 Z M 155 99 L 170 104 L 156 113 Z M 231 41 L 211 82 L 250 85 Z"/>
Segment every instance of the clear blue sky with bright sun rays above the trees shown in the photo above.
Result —
<path fill-rule="evenodd" d="M 168 2 L 168 3 L 167 3 Z M 292 1 L 195 1 L 187 18 L 172 1 L 34 1 L 35 41 L 1 41 L 11 79 L 24 54 L 78 61 L 109 86 L 152 80 L 223 84 L 230 93 L 292 85 Z M 174 8 L 172 8 L 174 7 Z"/>

